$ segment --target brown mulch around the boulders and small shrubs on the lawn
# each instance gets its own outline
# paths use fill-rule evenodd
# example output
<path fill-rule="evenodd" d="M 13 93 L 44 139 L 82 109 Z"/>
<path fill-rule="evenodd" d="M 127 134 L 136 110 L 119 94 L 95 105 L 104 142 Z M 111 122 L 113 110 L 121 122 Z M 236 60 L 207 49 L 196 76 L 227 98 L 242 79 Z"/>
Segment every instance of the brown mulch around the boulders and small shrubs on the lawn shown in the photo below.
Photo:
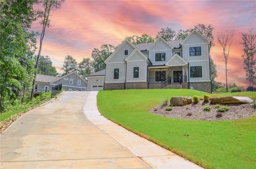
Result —
<path fill-rule="evenodd" d="M 203 111 L 204 106 L 211 106 L 210 111 Z M 220 105 L 223 106 L 223 105 Z M 154 107 L 149 112 L 157 115 L 162 115 L 171 118 L 182 118 L 191 120 L 235 120 L 256 115 L 256 110 L 253 108 L 253 104 L 225 104 L 229 107 L 228 111 L 221 112 L 222 117 L 217 118 L 217 108 L 214 104 L 204 103 L 202 100 L 195 104 L 188 104 L 186 106 L 174 106 L 171 111 L 166 111 L 166 107 L 161 105 Z"/>

